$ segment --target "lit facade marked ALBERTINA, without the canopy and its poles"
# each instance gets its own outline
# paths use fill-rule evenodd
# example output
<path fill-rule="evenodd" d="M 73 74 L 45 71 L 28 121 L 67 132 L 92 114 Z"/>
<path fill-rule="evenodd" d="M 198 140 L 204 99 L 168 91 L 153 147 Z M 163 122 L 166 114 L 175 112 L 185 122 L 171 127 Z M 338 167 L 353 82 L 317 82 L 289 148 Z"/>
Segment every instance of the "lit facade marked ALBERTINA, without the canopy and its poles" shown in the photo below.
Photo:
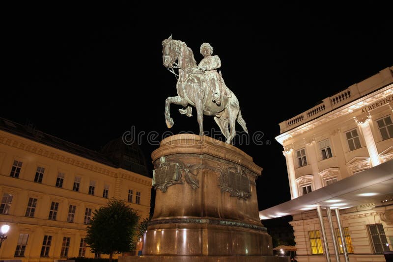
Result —
<path fill-rule="evenodd" d="M 284 148 L 292 199 L 393 161 L 392 71 L 393 67 L 385 68 L 280 123 L 276 140 Z M 339 202 L 331 204 L 339 208 L 349 260 L 385 261 L 383 252 L 392 250 L 393 244 L 392 199 L 349 208 Z M 337 217 L 332 218 L 332 234 L 326 210 L 322 210 L 326 230 L 321 228 L 315 207 L 303 210 L 289 222 L 298 262 L 327 261 L 322 235 L 326 235 L 330 254 L 335 254 L 336 247 L 343 254 Z"/>

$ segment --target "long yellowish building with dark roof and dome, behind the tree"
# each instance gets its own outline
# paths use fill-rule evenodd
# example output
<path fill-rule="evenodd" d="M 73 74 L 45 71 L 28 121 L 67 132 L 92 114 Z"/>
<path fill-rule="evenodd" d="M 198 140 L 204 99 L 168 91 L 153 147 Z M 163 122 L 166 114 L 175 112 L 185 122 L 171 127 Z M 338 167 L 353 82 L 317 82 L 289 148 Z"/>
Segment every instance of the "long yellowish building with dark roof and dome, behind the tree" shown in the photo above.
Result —
<path fill-rule="evenodd" d="M 10 226 L 0 260 L 93 258 L 86 227 L 109 199 L 149 217 L 152 181 L 143 159 L 121 138 L 95 152 L 0 118 L 0 226 Z"/>

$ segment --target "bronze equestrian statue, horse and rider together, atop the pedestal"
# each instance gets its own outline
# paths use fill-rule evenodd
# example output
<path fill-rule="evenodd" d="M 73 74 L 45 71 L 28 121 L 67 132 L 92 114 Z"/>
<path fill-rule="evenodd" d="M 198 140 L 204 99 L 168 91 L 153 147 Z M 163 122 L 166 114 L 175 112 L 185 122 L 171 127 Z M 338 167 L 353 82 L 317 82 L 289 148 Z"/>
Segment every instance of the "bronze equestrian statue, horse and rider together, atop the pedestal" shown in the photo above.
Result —
<path fill-rule="evenodd" d="M 235 94 L 225 85 L 221 72 L 221 60 L 218 55 L 212 55 L 213 48 L 208 43 L 203 43 L 200 53 L 204 58 L 197 65 L 191 48 L 179 40 L 173 40 L 172 36 L 162 42 L 163 64 L 170 72 L 176 75 L 177 96 L 168 97 L 165 101 L 165 121 L 167 127 L 173 126 L 170 117 L 170 104 L 182 105 L 180 114 L 192 116 L 192 107 L 197 109 L 197 121 L 199 135 L 203 132 L 203 115 L 213 116 L 215 122 L 224 134 L 225 143 L 231 144 L 236 135 L 235 123 L 240 124 L 248 133 L 239 101 Z M 174 72 L 178 69 L 178 74 Z"/>

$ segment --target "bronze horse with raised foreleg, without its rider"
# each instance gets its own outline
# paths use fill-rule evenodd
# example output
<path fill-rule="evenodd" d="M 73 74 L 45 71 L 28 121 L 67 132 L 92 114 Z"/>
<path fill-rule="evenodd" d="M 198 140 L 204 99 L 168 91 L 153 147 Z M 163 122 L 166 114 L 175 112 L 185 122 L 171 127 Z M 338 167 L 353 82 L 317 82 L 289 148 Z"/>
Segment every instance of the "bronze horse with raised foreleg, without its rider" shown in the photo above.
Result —
<path fill-rule="evenodd" d="M 199 135 L 203 132 L 203 115 L 212 115 L 221 132 L 225 135 L 225 143 L 230 144 L 236 135 L 236 120 L 248 133 L 246 122 L 240 112 L 239 101 L 236 96 L 226 88 L 227 96 L 222 103 L 217 105 L 212 101 L 212 87 L 209 79 L 197 68 L 194 53 L 191 48 L 179 40 L 173 40 L 172 36 L 162 42 L 163 64 L 171 70 L 178 68 L 176 83 L 177 96 L 168 97 L 165 101 L 165 121 L 167 127 L 173 126 L 173 119 L 170 117 L 170 104 L 182 105 L 185 109 L 179 109 L 182 114 L 191 116 L 192 106 L 197 109 L 197 121 L 199 124 Z M 177 62 L 176 62 L 177 61 Z M 174 73 L 172 71 L 172 73 Z M 223 81 L 222 81 L 223 82 Z M 225 85 L 225 83 L 223 82 Z"/>

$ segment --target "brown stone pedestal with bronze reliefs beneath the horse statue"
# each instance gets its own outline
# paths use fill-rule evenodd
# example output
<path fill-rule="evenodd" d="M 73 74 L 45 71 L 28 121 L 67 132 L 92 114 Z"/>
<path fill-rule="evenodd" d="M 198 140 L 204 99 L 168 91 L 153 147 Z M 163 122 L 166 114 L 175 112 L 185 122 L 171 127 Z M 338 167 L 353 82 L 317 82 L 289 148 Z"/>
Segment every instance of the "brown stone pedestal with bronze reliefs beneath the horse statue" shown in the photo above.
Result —
<path fill-rule="evenodd" d="M 262 168 L 238 148 L 208 136 L 179 134 L 152 153 L 153 217 L 142 256 L 119 262 L 289 262 L 273 256 L 258 215 Z"/>

